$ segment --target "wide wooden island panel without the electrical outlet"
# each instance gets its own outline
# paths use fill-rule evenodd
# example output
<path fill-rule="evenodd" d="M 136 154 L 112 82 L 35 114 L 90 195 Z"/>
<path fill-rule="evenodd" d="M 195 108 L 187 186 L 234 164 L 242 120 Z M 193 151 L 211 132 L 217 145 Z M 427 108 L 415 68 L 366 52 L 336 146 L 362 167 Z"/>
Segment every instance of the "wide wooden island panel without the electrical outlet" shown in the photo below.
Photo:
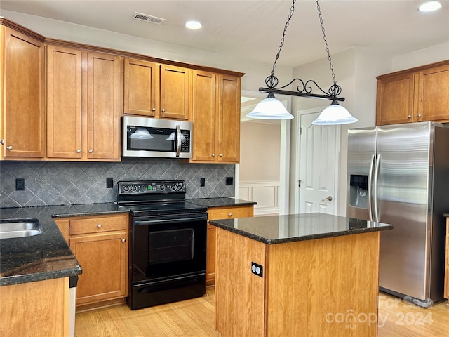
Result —
<path fill-rule="evenodd" d="M 377 336 L 379 242 L 370 232 L 269 245 L 266 336 Z"/>

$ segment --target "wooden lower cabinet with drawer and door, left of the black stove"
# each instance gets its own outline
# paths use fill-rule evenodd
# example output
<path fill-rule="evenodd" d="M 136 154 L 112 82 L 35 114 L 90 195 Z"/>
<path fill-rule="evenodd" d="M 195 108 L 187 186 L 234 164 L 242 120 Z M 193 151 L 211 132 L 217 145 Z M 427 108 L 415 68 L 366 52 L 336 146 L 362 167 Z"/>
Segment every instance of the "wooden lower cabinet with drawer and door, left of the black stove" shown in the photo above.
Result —
<path fill-rule="evenodd" d="M 76 307 L 128 296 L 128 214 L 55 220 L 83 269 Z"/>

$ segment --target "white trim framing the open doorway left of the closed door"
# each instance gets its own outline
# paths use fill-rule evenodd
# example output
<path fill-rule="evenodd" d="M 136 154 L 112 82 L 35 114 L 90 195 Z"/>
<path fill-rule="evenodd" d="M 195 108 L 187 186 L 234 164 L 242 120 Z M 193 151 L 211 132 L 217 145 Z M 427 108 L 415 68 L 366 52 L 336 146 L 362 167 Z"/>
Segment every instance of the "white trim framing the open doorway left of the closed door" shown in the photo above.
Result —
<path fill-rule="evenodd" d="M 258 91 L 242 90 L 242 96 L 264 99 L 267 93 L 260 93 Z M 288 111 L 291 110 L 291 96 L 276 95 Z M 279 214 L 288 214 L 288 195 L 290 187 L 290 119 L 281 120 L 281 144 L 280 144 L 280 163 L 279 163 Z M 235 169 L 235 192 L 234 195 L 239 198 L 239 164 L 236 164 Z"/>

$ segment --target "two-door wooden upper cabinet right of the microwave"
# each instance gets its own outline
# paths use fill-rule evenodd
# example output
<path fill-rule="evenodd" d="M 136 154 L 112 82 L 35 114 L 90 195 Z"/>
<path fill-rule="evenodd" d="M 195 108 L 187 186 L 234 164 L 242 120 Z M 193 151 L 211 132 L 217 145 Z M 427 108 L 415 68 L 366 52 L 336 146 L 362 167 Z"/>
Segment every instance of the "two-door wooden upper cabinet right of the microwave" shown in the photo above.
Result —
<path fill-rule="evenodd" d="M 192 81 L 193 155 L 190 161 L 240 160 L 241 78 L 194 70 Z"/>

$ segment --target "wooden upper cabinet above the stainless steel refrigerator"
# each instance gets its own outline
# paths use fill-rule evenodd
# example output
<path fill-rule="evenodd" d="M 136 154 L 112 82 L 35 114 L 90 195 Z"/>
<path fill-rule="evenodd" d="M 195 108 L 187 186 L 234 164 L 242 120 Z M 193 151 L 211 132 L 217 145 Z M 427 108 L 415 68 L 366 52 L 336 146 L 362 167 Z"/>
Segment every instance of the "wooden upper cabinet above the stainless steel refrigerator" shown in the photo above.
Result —
<path fill-rule="evenodd" d="M 449 60 L 377 77 L 376 125 L 449 121 Z"/>

